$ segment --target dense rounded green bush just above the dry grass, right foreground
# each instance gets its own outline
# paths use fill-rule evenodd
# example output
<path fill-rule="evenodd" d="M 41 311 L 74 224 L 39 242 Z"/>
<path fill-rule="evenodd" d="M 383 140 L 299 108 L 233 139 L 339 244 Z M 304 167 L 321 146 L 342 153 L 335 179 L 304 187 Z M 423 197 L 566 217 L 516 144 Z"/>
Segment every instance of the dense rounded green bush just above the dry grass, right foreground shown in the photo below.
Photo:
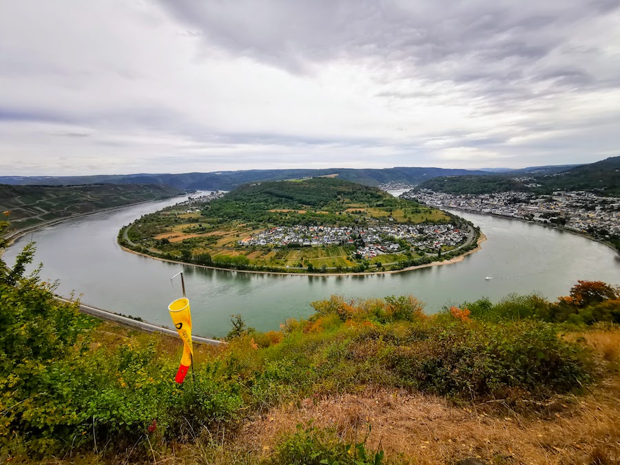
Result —
<path fill-rule="evenodd" d="M 399 347 L 391 364 L 406 386 L 470 399 L 510 391 L 544 397 L 590 380 L 587 354 L 536 321 L 444 324 Z"/>

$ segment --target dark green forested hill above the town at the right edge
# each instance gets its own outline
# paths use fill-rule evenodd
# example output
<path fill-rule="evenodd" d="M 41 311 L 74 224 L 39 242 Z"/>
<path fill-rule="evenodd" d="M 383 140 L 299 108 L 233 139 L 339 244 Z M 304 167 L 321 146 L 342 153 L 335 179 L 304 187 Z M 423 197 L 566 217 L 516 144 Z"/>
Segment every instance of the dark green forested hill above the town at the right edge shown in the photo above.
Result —
<path fill-rule="evenodd" d="M 417 189 L 431 189 L 447 194 L 490 194 L 510 190 L 550 194 L 557 190 L 586 190 L 619 196 L 620 156 L 552 174 L 441 176 L 418 185 Z"/>

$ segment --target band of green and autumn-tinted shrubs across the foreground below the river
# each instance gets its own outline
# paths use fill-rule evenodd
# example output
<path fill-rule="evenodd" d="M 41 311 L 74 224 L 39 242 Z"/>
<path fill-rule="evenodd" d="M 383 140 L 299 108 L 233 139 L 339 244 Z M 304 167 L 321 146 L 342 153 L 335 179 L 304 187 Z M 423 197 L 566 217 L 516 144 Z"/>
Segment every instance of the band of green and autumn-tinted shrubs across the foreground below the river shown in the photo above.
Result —
<path fill-rule="evenodd" d="M 31 254 L 27 249 L 18 261 Z M 313 302 L 309 320 L 287 320 L 282 331 L 258 333 L 234 317 L 228 347 L 199 352 L 196 382 L 188 377 L 179 386 L 180 344 L 167 353 L 158 336 L 139 335 L 107 345 L 94 320 L 54 300 L 53 286 L 13 275 L 15 286 L 9 276 L 3 269 L 0 452 L 11 455 L 87 448 L 144 457 L 151 446 L 228 430 L 247 415 L 309 395 L 375 386 L 509 402 L 579 389 L 593 373 L 588 351 L 550 322 L 471 319 L 456 307 L 431 317 L 411 296 L 333 296 Z M 605 287 L 579 291 L 581 303 L 613 300 Z M 510 308 L 508 300 L 502 305 Z M 322 434 L 307 429 L 283 438 L 274 463 L 349 463 L 351 451 L 362 463 L 382 457 L 357 443 L 326 443 Z"/>

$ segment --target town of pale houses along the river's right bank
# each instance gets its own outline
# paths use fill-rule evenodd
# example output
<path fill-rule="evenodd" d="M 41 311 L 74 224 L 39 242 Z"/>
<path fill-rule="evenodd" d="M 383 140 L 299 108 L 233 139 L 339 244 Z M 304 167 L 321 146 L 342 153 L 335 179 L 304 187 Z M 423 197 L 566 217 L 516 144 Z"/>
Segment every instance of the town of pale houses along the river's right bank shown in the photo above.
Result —
<path fill-rule="evenodd" d="M 557 225 L 599 238 L 620 235 L 620 198 L 601 197 L 590 192 L 557 191 L 552 195 L 536 195 L 510 191 L 453 195 L 420 189 L 405 192 L 402 197 L 438 208 L 456 208 Z"/>

